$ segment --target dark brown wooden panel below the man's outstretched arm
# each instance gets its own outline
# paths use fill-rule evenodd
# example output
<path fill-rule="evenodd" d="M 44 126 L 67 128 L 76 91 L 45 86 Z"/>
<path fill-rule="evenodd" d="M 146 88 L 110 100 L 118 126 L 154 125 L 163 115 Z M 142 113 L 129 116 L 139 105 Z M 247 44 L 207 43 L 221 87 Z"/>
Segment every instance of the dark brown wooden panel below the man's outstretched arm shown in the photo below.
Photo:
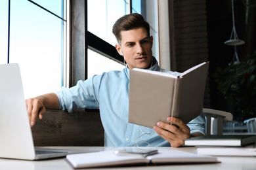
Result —
<path fill-rule="evenodd" d="M 35 146 L 104 146 L 99 112 L 47 110 L 32 127 Z"/>

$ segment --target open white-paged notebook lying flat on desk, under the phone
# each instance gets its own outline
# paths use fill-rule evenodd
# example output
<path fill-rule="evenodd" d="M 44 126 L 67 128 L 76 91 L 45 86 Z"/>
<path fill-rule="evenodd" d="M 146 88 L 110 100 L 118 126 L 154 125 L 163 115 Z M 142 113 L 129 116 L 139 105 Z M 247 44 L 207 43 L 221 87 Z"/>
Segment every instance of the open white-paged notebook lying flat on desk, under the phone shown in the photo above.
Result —
<path fill-rule="evenodd" d="M 66 160 L 75 169 L 90 167 L 114 167 L 122 165 L 150 165 L 150 164 L 171 164 L 171 163 L 217 163 L 217 158 L 203 156 L 179 150 L 158 150 L 158 154 L 146 156 L 133 154 L 119 156 L 114 150 L 93 152 L 85 154 L 70 154 Z"/>

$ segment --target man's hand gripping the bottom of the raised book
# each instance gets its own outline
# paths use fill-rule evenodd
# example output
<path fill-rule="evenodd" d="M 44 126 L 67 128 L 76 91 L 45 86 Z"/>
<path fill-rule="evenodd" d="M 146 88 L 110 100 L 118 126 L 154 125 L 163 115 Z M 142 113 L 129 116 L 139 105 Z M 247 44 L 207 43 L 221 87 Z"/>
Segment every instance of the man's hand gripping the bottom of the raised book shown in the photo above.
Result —
<path fill-rule="evenodd" d="M 154 130 L 160 137 L 168 141 L 172 147 L 179 147 L 184 144 L 183 139 L 190 137 L 190 128 L 179 118 L 169 117 L 167 121 L 171 124 L 158 122 Z"/>

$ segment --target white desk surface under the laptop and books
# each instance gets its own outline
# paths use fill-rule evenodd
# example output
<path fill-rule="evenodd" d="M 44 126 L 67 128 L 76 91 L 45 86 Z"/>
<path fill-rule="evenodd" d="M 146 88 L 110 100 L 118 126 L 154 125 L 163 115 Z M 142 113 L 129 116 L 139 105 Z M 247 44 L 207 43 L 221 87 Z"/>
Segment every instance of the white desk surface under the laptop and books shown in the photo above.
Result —
<path fill-rule="evenodd" d="M 114 148 L 108 147 L 51 147 L 51 148 L 65 148 L 81 152 L 84 150 L 110 150 Z M 166 148 L 171 150 L 181 150 L 184 152 L 196 152 L 196 148 Z M 218 169 L 218 170 L 240 170 L 240 169 L 256 169 L 256 157 L 227 157 L 219 156 L 217 157 L 221 163 L 206 163 L 206 164 L 188 164 L 188 165 L 159 165 L 150 167 L 115 167 L 115 168 L 100 168 L 100 169 L 189 169 L 189 170 L 204 170 L 204 169 Z M 53 160 L 41 160 L 41 161 L 24 161 L 24 160 L 8 160 L 0 159 L 0 169 L 62 169 L 71 170 L 72 167 L 63 158 L 53 159 Z"/>

